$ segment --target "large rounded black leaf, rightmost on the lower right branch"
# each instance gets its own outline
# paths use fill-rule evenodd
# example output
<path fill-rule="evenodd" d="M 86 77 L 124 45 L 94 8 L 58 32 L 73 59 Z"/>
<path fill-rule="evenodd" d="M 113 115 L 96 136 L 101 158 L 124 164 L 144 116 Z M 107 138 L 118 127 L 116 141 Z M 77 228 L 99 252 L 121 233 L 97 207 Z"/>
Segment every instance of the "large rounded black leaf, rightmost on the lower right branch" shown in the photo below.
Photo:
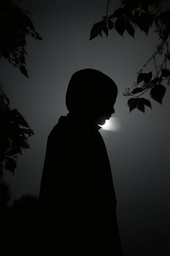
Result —
<path fill-rule="evenodd" d="M 162 104 L 163 97 L 165 95 L 166 88 L 162 84 L 156 84 L 154 87 L 152 87 L 150 96 L 153 100 L 159 102 Z"/>

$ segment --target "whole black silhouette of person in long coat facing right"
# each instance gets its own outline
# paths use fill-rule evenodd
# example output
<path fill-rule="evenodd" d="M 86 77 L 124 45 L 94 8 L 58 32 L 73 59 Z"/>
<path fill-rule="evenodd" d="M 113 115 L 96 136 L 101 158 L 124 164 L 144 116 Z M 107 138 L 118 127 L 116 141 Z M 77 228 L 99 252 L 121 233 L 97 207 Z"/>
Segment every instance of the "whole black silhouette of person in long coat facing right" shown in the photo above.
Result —
<path fill-rule="evenodd" d="M 40 187 L 46 255 L 122 255 L 111 167 L 100 126 L 114 113 L 117 86 L 104 73 L 74 73 L 69 113 L 50 132 Z"/>

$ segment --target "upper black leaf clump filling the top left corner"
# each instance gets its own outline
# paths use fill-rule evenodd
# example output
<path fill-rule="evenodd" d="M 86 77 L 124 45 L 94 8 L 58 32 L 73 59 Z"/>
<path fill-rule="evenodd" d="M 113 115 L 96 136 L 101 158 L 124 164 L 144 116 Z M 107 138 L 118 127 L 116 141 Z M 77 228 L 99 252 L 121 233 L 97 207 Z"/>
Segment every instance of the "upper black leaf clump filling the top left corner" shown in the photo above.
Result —
<path fill-rule="evenodd" d="M 28 77 L 25 68 L 26 36 L 42 40 L 36 32 L 28 11 L 23 11 L 13 0 L 0 1 L 0 58 L 4 57 Z"/>

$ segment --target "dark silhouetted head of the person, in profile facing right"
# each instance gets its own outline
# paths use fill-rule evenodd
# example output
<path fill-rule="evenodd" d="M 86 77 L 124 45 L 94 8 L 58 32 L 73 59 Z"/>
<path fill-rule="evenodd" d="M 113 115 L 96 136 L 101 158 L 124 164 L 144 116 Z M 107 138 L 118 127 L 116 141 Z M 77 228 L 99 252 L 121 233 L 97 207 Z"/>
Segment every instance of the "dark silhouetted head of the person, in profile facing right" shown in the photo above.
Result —
<path fill-rule="evenodd" d="M 114 113 L 116 97 L 117 86 L 110 77 L 95 69 L 82 69 L 70 79 L 66 106 L 87 122 L 103 125 Z"/>

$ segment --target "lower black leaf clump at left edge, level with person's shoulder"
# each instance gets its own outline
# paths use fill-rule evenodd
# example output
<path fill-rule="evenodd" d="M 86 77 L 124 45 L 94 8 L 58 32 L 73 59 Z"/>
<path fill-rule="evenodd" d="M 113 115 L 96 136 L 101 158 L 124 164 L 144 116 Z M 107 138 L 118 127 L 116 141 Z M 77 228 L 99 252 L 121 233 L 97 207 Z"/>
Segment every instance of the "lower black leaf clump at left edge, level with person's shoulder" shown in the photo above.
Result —
<path fill-rule="evenodd" d="M 0 87 L 1 174 L 3 166 L 14 173 L 18 154 L 22 155 L 23 148 L 29 148 L 28 137 L 34 134 L 22 114 L 17 109 L 11 110 L 9 103 L 8 97 Z"/>

